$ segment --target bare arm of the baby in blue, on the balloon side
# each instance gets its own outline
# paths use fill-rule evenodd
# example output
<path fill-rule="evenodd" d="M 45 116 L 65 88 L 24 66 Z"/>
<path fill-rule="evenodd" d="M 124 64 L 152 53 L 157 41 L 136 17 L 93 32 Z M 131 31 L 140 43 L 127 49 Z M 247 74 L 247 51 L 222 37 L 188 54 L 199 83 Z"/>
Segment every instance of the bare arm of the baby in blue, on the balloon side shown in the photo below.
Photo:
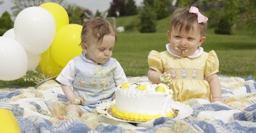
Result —
<path fill-rule="evenodd" d="M 83 97 L 79 97 L 79 96 L 75 95 L 70 86 L 64 85 L 61 83 L 61 88 L 62 88 L 64 94 L 66 95 L 68 101 L 70 102 L 70 104 L 77 104 L 77 105 L 84 104 Z"/>

